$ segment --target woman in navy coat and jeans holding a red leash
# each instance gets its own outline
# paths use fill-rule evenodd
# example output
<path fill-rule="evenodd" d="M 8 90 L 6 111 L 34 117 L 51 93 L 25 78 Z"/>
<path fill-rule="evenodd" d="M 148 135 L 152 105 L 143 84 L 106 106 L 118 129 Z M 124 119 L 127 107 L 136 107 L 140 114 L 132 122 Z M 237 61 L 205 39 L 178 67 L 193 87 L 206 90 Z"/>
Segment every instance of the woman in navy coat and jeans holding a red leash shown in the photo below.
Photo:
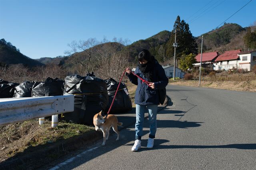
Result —
<path fill-rule="evenodd" d="M 136 104 L 136 123 L 135 123 L 135 142 L 132 151 L 141 148 L 141 137 L 144 123 L 144 113 L 148 111 L 150 133 L 147 148 L 153 148 L 154 138 L 156 135 L 156 114 L 159 105 L 158 89 L 165 88 L 168 84 L 168 78 L 165 71 L 158 61 L 150 55 L 146 49 L 142 50 L 138 56 L 138 66 L 134 71 L 135 74 L 150 82 L 149 86 L 143 83 L 140 78 L 131 74 L 131 69 L 126 68 L 126 75 L 130 81 L 137 85 L 135 93 Z"/>

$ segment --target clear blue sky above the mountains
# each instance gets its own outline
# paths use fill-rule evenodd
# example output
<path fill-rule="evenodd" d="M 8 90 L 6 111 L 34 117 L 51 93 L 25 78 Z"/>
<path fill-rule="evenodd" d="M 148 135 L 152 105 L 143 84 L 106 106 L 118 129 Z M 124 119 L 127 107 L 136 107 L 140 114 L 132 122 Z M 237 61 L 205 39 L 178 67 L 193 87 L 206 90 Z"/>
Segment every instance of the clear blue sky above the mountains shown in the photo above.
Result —
<path fill-rule="evenodd" d="M 146 39 L 171 31 L 179 15 L 194 36 L 215 29 L 250 0 L 0 0 L 0 39 L 38 59 L 70 50 L 71 41 L 104 36 Z M 256 0 L 226 23 L 256 21 Z"/>

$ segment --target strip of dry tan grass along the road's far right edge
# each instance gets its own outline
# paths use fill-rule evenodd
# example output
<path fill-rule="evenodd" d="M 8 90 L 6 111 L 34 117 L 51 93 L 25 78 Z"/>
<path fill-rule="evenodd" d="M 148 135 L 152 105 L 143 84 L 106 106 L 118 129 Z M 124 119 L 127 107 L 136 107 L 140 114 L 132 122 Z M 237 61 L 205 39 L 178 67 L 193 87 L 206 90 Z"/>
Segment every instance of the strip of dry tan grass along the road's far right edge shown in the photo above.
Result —
<path fill-rule="evenodd" d="M 170 82 L 172 85 L 180 85 L 180 86 L 199 86 L 199 80 L 179 80 L 176 82 Z M 206 88 L 217 88 L 217 89 L 226 89 L 226 90 L 234 90 L 234 91 L 248 91 L 248 92 L 256 92 L 256 80 L 247 80 L 247 81 L 201 81 L 201 87 Z"/>

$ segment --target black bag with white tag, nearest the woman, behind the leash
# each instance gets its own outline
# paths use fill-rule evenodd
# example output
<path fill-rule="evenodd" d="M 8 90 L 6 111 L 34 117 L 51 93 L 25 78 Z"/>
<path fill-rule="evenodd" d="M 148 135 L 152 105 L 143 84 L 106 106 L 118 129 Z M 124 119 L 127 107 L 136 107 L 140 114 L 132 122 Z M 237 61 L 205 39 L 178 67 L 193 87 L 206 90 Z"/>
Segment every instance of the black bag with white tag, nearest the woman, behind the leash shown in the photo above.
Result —
<path fill-rule="evenodd" d="M 109 109 L 114 99 L 119 82 L 116 82 L 116 80 L 112 78 L 105 80 L 105 82 L 108 88 L 108 109 Z M 128 89 L 126 85 L 123 82 L 121 82 L 110 113 L 124 113 L 126 111 L 130 111 L 131 109 L 132 109 L 132 101 L 129 97 Z"/>

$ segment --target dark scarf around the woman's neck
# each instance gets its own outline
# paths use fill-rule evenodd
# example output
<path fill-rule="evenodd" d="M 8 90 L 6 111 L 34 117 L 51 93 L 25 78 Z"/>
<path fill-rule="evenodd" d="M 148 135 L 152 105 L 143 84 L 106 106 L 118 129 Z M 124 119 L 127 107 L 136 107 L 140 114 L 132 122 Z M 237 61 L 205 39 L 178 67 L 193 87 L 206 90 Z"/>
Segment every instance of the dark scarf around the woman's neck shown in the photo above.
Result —
<path fill-rule="evenodd" d="M 146 76 L 149 82 L 153 82 L 153 70 L 154 70 L 154 65 L 155 65 L 155 59 L 152 58 L 148 63 L 146 64 L 140 64 L 138 62 L 138 67 L 140 71 Z"/>

